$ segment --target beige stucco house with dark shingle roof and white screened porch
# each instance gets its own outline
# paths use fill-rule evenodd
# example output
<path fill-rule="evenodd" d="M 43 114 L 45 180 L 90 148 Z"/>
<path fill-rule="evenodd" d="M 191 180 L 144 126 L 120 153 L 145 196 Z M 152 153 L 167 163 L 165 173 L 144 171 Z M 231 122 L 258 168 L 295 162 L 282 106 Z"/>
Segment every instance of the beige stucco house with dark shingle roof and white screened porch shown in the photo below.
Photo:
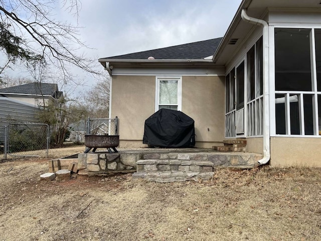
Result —
<path fill-rule="evenodd" d="M 195 120 L 197 147 L 246 138 L 260 164 L 321 167 L 319 0 L 243 0 L 222 39 L 99 62 L 120 146 L 143 146 L 145 119 L 166 107 Z"/>

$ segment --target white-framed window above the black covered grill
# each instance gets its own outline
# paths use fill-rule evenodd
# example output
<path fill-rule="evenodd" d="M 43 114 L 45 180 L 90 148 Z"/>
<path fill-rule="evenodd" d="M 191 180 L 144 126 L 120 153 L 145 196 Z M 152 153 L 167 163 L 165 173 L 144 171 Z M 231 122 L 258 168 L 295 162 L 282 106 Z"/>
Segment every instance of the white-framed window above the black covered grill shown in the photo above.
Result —
<path fill-rule="evenodd" d="M 182 77 L 156 76 L 155 111 L 167 108 L 182 109 Z"/>

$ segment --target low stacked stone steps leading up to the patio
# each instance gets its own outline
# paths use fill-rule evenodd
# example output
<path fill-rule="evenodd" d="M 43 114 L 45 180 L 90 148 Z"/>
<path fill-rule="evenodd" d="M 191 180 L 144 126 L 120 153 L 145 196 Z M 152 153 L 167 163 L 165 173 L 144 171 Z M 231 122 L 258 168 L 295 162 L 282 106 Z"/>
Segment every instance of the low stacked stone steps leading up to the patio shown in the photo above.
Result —
<path fill-rule="evenodd" d="M 213 175 L 210 161 L 145 159 L 137 161 L 136 173 L 132 177 L 156 182 L 184 182 L 210 180 Z"/>

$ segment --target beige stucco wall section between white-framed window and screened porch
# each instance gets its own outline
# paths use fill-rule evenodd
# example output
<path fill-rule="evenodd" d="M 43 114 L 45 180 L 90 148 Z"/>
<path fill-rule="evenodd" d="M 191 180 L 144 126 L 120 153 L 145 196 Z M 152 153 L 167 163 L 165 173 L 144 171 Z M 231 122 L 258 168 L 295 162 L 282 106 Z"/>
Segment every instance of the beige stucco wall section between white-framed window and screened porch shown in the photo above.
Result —
<path fill-rule="evenodd" d="M 196 147 L 224 140 L 225 77 L 183 76 L 182 111 L 195 121 Z"/>

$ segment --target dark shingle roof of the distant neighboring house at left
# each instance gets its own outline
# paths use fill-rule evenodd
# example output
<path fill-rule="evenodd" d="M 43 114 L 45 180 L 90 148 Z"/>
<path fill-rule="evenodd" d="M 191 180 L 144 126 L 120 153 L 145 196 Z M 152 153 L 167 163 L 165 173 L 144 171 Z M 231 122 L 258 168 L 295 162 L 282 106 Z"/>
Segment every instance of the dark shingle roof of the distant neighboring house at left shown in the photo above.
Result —
<path fill-rule="evenodd" d="M 61 94 L 59 92 L 61 91 L 58 91 L 58 85 L 50 83 L 29 83 L 0 89 L 0 93 L 38 94 L 53 97 L 59 96 Z"/>

